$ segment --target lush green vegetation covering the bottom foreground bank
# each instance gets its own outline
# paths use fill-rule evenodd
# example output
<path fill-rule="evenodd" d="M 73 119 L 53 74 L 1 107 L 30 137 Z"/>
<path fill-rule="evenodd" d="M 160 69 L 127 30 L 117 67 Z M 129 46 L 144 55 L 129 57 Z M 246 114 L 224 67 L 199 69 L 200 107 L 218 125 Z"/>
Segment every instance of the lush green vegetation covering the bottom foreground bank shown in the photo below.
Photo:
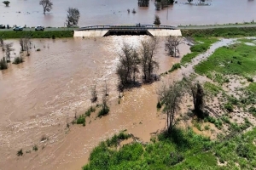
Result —
<path fill-rule="evenodd" d="M 90 153 L 90 163 L 82 169 L 243 169 L 256 167 L 256 128 L 253 131 L 216 141 L 175 129 L 160 133 L 149 144 L 127 144 L 120 150 L 102 142 Z M 219 167 L 226 162 L 226 166 Z"/>

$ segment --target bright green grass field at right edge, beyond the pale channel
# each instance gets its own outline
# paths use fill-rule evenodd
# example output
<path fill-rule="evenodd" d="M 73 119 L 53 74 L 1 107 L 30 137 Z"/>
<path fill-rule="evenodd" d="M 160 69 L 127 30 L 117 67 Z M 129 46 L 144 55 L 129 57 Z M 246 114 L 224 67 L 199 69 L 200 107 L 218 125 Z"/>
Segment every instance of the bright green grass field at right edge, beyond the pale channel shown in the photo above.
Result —
<path fill-rule="evenodd" d="M 236 43 L 230 47 L 218 48 L 206 61 L 195 66 L 195 72 L 207 75 L 212 72 L 221 75 L 256 75 L 256 46 Z"/>

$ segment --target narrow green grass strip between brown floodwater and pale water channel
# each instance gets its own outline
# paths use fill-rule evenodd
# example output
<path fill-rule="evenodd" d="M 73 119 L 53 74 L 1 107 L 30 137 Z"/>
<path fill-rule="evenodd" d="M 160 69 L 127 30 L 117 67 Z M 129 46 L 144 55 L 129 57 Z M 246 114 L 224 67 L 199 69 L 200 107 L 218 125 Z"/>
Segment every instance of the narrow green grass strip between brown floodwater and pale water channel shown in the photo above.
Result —
<path fill-rule="evenodd" d="M 190 48 L 191 53 L 186 54 L 181 59 L 181 64 L 185 65 L 191 62 L 197 55 L 204 53 L 209 49 L 214 42 L 218 42 L 217 38 L 205 38 L 205 37 L 195 37 L 195 45 Z"/>

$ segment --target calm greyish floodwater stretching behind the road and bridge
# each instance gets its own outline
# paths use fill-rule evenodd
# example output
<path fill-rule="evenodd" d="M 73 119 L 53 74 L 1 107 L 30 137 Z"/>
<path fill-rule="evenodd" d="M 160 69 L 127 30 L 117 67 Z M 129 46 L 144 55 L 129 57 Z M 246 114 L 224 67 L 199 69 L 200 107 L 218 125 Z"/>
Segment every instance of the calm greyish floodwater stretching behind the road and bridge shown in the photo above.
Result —
<path fill-rule="evenodd" d="M 206 0 L 207 6 L 198 6 L 199 0 L 185 4 L 177 0 L 173 6 L 156 11 L 154 0 L 148 8 L 139 8 L 137 0 L 52 0 L 53 9 L 43 14 L 43 8 L 34 0 L 12 0 L 9 7 L 0 4 L 0 24 L 20 26 L 64 26 L 67 8 L 79 8 L 79 26 L 153 24 L 154 14 L 162 25 L 207 25 L 256 20 L 256 2 L 253 0 Z M 137 11 L 128 14 L 127 9 Z"/>

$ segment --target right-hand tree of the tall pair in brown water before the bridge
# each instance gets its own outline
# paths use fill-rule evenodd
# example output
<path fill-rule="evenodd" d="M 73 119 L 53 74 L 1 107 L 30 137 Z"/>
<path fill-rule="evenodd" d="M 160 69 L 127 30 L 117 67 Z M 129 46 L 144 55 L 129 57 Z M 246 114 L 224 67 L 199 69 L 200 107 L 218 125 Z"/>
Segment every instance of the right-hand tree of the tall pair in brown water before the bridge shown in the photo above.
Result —
<path fill-rule="evenodd" d="M 150 37 L 141 42 L 140 58 L 145 82 L 152 81 L 152 73 L 159 68 L 159 63 L 155 59 L 158 45 L 156 37 Z"/>

